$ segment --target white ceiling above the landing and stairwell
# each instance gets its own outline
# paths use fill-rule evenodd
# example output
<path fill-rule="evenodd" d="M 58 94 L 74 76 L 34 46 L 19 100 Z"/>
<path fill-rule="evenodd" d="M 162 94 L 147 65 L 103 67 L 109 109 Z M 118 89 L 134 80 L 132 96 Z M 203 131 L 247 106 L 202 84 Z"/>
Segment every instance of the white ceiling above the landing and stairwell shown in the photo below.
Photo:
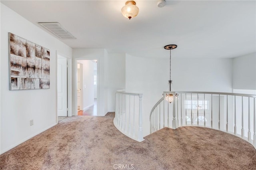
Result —
<path fill-rule="evenodd" d="M 163 49 L 168 44 L 178 45 L 174 58 L 230 58 L 256 51 L 256 1 L 167 1 L 158 8 L 157 0 L 137 0 L 140 12 L 131 20 L 121 14 L 125 1 L 1 2 L 43 30 L 38 22 L 59 22 L 77 38 L 60 40 L 72 48 L 158 58 L 169 57 Z"/>

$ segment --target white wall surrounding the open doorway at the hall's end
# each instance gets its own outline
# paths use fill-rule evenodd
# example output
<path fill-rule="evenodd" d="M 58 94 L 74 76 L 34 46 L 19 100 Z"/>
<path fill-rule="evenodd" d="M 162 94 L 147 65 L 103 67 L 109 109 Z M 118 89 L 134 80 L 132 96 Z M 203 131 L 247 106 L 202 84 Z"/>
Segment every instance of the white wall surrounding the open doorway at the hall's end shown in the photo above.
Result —
<path fill-rule="evenodd" d="M 105 108 L 106 103 L 106 91 L 105 91 L 105 77 L 107 72 L 105 71 L 106 61 L 106 50 L 105 49 L 73 49 L 73 63 L 76 60 L 81 59 L 96 59 L 98 64 L 98 98 L 97 98 L 97 111 L 98 116 L 104 116 L 107 113 Z M 73 91 L 76 91 L 76 64 L 73 64 Z M 76 108 L 76 93 L 73 93 L 73 108 Z M 73 109 L 73 115 L 76 114 L 76 109 Z"/>

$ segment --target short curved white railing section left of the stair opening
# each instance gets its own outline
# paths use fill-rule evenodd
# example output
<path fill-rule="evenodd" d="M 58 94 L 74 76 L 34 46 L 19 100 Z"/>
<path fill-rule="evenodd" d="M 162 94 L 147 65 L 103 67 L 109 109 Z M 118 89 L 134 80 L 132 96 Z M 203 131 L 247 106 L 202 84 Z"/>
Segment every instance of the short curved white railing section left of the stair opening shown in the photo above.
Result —
<path fill-rule="evenodd" d="M 138 142 L 144 140 L 142 129 L 142 93 L 116 91 L 116 112 L 113 123 L 126 136 Z"/>

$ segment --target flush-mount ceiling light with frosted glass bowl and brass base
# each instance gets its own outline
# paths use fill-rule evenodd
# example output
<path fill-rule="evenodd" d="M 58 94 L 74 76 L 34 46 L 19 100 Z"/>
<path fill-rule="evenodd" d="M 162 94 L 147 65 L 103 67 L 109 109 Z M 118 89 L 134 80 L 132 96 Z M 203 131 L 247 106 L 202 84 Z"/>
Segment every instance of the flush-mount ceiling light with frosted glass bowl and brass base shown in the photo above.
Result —
<path fill-rule="evenodd" d="M 139 13 L 139 8 L 136 6 L 136 2 L 134 0 L 128 0 L 125 2 L 125 6 L 121 9 L 121 12 L 125 18 L 134 18 Z"/>

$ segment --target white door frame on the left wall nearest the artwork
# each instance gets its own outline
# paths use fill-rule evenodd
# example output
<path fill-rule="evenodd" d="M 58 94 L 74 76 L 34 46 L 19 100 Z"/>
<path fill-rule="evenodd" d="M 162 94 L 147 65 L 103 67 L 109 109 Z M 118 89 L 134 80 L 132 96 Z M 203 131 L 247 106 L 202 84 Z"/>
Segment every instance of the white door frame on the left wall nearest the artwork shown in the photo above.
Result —
<path fill-rule="evenodd" d="M 56 123 L 58 123 L 58 56 L 64 57 L 67 59 L 67 70 L 68 70 L 68 117 L 72 116 L 72 59 L 62 53 L 56 51 Z"/>

